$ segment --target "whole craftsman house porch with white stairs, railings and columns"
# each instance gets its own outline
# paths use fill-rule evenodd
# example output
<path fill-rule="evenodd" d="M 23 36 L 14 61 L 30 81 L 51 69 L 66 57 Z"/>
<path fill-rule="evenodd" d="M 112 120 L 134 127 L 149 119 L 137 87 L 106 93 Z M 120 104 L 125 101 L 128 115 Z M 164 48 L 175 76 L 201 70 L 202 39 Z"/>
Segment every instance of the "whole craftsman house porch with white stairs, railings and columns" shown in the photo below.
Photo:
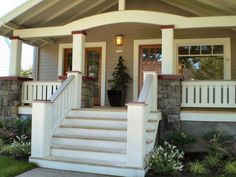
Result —
<path fill-rule="evenodd" d="M 164 2 L 159 11 L 132 9 L 125 0 L 48 3 L 31 1 L 29 11 L 4 19 L 2 27 L 7 36 L 13 22 L 27 26 L 11 26 L 10 76 L 0 80 L 10 87 L 1 92 L 3 98 L 18 94 L 2 109 L 32 115 L 30 161 L 46 168 L 145 176 L 144 158 L 158 134 L 219 127 L 235 133 L 235 15 L 196 17 Z M 145 1 L 134 5 L 139 3 L 143 7 Z M 54 5 L 71 11 L 41 13 Z M 71 18 L 78 13 L 74 7 L 87 15 Z M 30 23 L 34 8 L 42 16 Z M 53 17 L 57 20 L 49 23 Z M 19 77 L 22 42 L 38 46 L 33 81 Z M 111 108 L 106 91 L 119 56 L 132 83 L 126 106 Z"/>

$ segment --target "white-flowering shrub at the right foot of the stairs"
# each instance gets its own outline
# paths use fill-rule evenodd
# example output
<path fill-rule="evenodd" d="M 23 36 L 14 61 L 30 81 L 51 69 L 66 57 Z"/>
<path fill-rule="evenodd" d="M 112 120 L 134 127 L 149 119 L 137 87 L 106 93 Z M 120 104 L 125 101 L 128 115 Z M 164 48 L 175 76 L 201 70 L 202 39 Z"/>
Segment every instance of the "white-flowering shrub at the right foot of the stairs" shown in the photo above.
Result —
<path fill-rule="evenodd" d="M 182 171 L 184 153 L 179 151 L 176 146 L 164 142 L 163 146 L 154 148 L 145 161 L 147 165 L 158 174 L 176 174 L 178 171 Z"/>

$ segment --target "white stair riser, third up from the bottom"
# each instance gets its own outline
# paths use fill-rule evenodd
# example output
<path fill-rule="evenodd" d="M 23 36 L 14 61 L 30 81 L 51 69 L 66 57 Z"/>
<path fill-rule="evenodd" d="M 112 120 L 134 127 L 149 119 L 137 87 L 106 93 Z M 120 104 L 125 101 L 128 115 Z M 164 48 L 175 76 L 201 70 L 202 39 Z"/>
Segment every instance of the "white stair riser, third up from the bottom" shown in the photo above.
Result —
<path fill-rule="evenodd" d="M 86 146 L 86 147 L 97 147 L 97 148 L 115 148 L 115 149 L 126 150 L 126 142 L 116 142 L 116 141 L 53 138 L 51 144 Z"/>

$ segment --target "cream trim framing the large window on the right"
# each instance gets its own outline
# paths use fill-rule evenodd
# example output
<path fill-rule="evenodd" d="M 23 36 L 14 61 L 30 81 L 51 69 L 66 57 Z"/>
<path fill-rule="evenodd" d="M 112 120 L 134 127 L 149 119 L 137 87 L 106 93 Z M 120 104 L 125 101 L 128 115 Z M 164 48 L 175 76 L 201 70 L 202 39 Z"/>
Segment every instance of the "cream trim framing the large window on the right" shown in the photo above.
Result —
<path fill-rule="evenodd" d="M 192 44 L 224 45 L 224 80 L 231 80 L 230 38 L 201 38 L 201 39 L 176 39 L 174 40 L 174 46 L 175 46 L 174 58 L 177 60 L 176 67 L 178 67 L 178 51 L 177 51 L 178 46 L 192 45 Z"/>

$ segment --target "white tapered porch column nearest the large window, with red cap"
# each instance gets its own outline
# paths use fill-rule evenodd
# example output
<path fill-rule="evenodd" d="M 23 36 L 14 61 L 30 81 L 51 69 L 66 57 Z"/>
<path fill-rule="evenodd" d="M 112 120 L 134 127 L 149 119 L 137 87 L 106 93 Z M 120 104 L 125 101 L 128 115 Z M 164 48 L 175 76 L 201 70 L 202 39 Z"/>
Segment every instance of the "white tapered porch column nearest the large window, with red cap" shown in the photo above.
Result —
<path fill-rule="evenodd" d="M 174 25 L 161 26 L 162 32 L 162 74 L 176 74 L 174 59 Z"/>

